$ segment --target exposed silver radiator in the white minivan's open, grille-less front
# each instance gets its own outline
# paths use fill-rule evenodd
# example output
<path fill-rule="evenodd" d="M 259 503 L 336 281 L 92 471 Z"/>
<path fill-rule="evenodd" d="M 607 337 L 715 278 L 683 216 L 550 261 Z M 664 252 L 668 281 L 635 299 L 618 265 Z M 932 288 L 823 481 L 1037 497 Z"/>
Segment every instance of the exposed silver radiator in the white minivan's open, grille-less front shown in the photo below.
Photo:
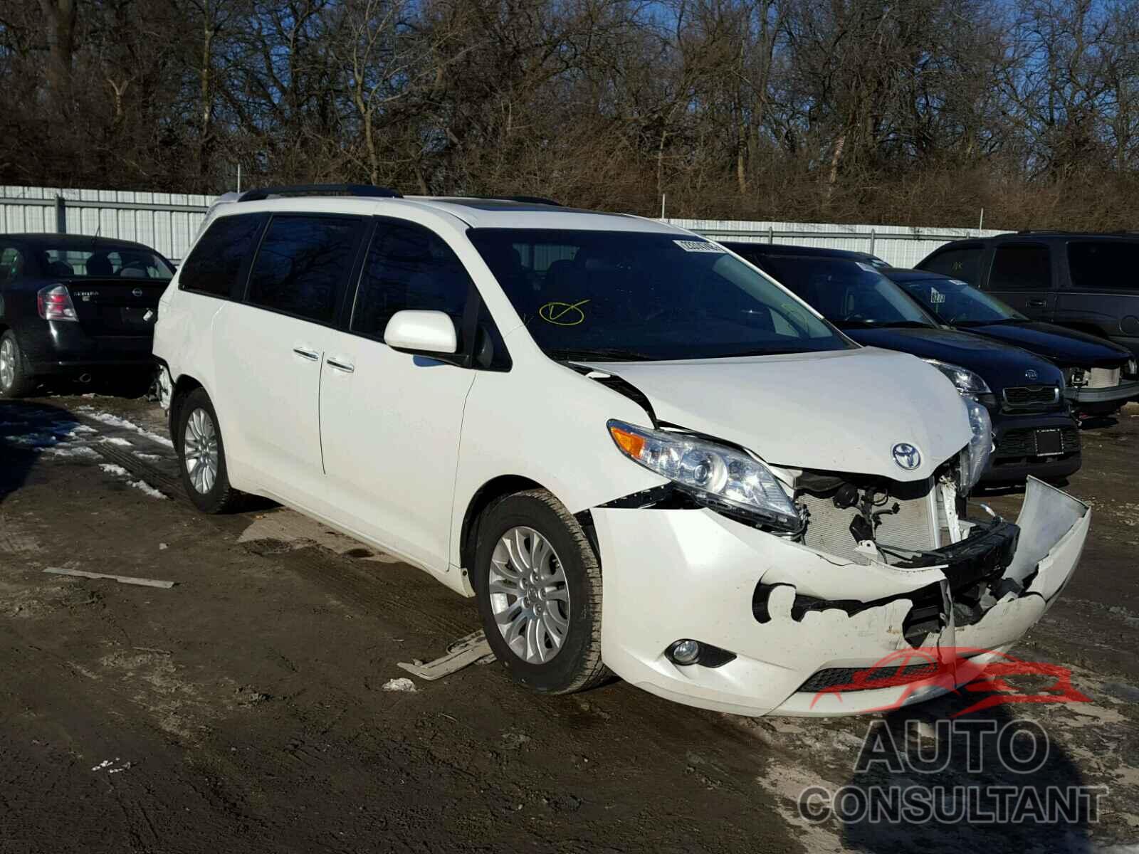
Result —
<path fill-rule="evenodd" d="M 903 549 L 936 549 L 937 529 L 936 512 L 933 496 L 933 481 L 921 481 L 915 484 L 892 484 L 898 495 L 891 495 L 888 504 L 899 504 L 896 514 L 879 516 L 876 539 L 887 545 Z M 866 563 L 866 557 L 854 550 L 858 543 L 851 534 L 851 522 L 858 516 L 852 507 L 839 509 L 830 498 L 819 498 L 803 493 L 800 501 L 806 507 L 810 517 L 806 533 L 803 536 L 805 545 L 834 555 L 837 558 Z"/>

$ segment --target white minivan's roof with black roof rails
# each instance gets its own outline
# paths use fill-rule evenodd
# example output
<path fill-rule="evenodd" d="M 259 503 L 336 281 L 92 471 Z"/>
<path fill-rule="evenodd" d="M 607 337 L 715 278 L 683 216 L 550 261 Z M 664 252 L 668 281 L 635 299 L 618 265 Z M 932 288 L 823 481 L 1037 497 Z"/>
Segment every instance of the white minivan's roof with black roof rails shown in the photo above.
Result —
<path fill-rule="evenodd" d="M 597 231 L 640 231 L 690 236 L 690 232 L 642 216 L 563 207 L 541 200 L 505 198 L 470 198 L 462 196 L 282 196 L 247 202 L 233 200 L 219 205 L 219 216 L 238 213 L 360 213 L 399 216 L 401 212 L 419 210 L 443 213 L 478 229 L 567 229 Z"/>

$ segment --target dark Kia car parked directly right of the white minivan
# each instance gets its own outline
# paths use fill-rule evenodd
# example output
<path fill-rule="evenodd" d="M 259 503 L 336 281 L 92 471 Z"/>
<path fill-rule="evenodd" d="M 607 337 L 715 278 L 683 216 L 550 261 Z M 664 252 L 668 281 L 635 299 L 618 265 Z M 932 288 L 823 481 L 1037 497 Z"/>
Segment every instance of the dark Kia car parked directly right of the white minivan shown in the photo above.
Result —
<path fill-rule="evenodd" d="M 989 410 L 995 449 L 983 485 L 1062 479 L 1079 470 L 1080 430 L 1064 400 L 1064 376 L 1019 347 L 942 327 L 865 261 L 795 247 L 724 244 L 810 303 L 859 344 L 912 353 Z M 883 377 L 890 383 L 890 377 Z M 872 397 L 874 389 L 866 389 Z"/>

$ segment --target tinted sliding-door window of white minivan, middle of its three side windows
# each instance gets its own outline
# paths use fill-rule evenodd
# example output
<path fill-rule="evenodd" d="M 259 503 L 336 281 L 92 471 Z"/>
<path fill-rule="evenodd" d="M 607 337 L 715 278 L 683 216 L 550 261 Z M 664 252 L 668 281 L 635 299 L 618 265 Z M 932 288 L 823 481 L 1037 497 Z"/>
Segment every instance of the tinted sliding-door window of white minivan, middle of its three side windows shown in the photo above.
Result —
<path fill-rule="evenodd" d="M 322 323 L 336 314 L 361 221 L 273 216 L 249 273 L 248 302 Z"/>

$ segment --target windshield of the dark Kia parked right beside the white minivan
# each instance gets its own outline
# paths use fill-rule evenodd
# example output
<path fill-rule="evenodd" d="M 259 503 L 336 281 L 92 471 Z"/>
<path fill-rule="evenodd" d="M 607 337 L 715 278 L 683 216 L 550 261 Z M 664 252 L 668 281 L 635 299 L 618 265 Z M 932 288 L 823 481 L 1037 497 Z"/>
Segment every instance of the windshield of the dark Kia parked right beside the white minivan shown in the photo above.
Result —
<path fill-rule="evenodd" d="M 765 257 L 763 264 L 839 328 L 936 326 L 894 282 L 865 262 L 778 255 Z"/>

